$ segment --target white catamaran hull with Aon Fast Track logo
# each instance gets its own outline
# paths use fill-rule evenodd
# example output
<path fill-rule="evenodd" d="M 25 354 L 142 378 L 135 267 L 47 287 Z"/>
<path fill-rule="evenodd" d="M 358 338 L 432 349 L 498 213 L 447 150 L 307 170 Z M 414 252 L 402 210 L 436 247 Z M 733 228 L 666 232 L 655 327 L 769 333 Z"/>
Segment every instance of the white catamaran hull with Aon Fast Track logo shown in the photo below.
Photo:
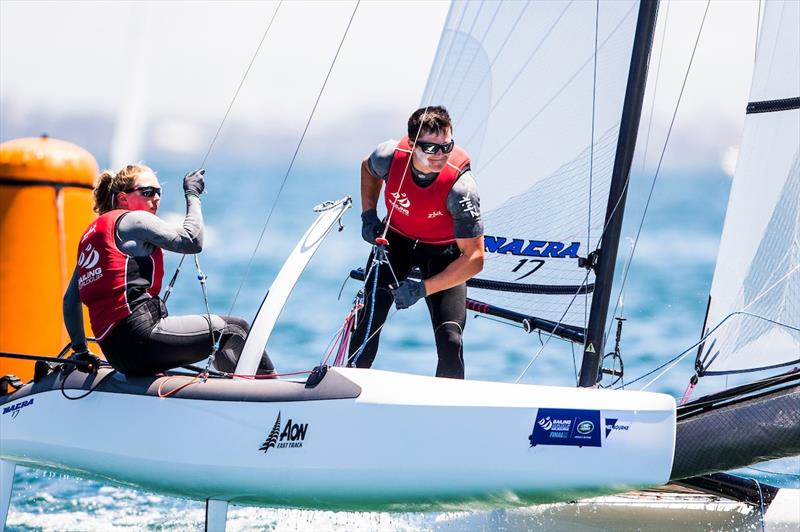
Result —
<path fill-rule="evenodd" d="M 66 393 L 85 393 L 73 375 Z M 672 467 L 675 403 L 662 394 L 337 368 L 318 386 L 339 379 L 356 397 L 267 402 L 182 398 L 202 395 L 199 381 L 167 399 L 103 391 L 114 379 L 77 401 L 55 382 L 17 392 L 0 415 L 0 459 L 195 499 L 336 509 L 564 501 L 663 484 Z"/>

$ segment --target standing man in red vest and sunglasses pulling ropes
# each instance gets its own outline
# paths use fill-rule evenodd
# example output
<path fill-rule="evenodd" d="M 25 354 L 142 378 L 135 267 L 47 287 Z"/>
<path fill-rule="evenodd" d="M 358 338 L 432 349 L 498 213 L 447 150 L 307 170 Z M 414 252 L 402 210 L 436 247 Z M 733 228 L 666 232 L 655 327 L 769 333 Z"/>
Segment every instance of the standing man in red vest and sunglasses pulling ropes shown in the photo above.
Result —
<path fill-rule="evenodd" d="M 382 189 L 384 221 L 377 214 Z M 372 366 L 392 302 L 399 310 L 425 298 L 439 357 L 436 376 L 463 379 L 465 283 L 483 269 L 483 222 L 469 155 L 455 145 L 444 107 L 417 109 L 408 119 L 408 136 L 380 144 L 364 159 L 361 206 L 361 236 L 385 243 L 388 223 L 388 245 L 373 248 L 367 262 L 365 306 L 348 364 Z M 375 263 L 376 253 L 383 260 Z M 407 277 L 415 266 L 421 280 Z"/>

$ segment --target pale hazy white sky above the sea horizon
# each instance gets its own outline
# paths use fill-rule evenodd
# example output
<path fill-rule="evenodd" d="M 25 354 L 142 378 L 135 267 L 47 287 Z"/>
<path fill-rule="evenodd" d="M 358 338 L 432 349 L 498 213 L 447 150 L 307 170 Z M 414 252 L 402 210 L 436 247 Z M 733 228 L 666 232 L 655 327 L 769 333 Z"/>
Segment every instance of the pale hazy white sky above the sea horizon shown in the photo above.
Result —
<path fill-rule="evenodd" d="M 360 159 L 402 132 L 409 110 L 420 101 L 448 5 L 436 0 L 358 5 L 307 133 L 320 158 Z M 705 5 L 662 2 L 651 59 L 660 58 L 661 65 L 654 138 L 663 137 L 672 118 Z M 215 149 L 291 151 L 355 6 L 354 1 L 283 2 Z M 197 159 L 208 149 L 277 7 L 272 1 L 0 0 L 0 140 L 47 131 L 108 151 L 96 154 L 107 160 L 115 149 L 111 137 L 121 154 L 117 158 L 141 158 L 143 151 L 158 149 Z M 712 2 L 676 118 L 668 167 L 732 169 L 758 12 L 758 0 Z M 648 91 L 646 105 L 652 83 Z M 146 131 L 146 142 L 130 131 Z"/>

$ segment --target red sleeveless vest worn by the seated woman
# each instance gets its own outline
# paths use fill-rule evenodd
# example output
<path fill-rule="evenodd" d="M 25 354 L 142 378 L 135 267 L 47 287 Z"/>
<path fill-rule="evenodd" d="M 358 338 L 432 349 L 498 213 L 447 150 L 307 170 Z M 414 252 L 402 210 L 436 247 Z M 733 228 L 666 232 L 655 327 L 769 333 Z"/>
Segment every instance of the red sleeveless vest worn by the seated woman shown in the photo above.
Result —
<path fill-rule="evenodd" d="M 131 257 L 114 238 L 119 217 L 129 211 L 101 215 L 86 229 L 78 244 L 78 293 L 89 308 L 95 338 L 102 340 L 133 309 L 161 291 L 164 252 Z"/>

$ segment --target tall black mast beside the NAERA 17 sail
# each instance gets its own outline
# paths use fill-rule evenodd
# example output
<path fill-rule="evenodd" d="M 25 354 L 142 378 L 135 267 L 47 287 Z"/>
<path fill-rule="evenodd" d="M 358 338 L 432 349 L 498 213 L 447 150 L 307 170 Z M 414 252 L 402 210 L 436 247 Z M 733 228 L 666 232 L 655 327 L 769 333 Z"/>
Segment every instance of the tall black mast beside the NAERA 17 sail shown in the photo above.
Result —
<path fill-rule="evenodd" d="M 628 192 L 627 182 L 633 161 L 633 151 L 636 147 L 636 135 L 639 131 L 639 119 L 647 82 L 647 65 L 653 44 L 657 13 L 658 0 L 641 0 L 631 52 L 631 67 L 628 70 L 628 84 L 625 89 L 625 101 L 620 119 L 614 170 L 611 174 L 605 229 L 598 248 L 597 262 L 593 266 L 595 271 L 594 296 L 586 329 L 586 343 L 584 344 L 578 383 L 582 387 L 594 386 L 599 377 L 600 362 L 603 356 L 603 335 L 605 334 L 608 303 L 611 299 L 614 279 L 614 264 L 617 260 L 622 216 L 625 212 L 625 198 Z"/>

